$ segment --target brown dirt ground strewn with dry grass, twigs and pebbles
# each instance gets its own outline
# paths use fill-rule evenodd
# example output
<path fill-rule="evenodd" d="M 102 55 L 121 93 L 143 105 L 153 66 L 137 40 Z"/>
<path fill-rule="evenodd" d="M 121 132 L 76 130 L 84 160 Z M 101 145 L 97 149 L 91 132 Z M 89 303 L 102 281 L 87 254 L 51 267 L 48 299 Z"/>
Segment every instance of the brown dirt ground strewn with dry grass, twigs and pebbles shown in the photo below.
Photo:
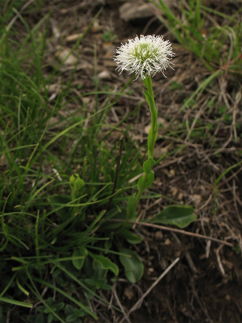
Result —
<path fill-rule="evenodd" d="M 213 3 L 215 7 L 220 6 L 218 10 L 226 13 L 228 9 L 236 10 L 233 2 L 214 1 Z M 173 36 L 158 20 L 136 20 L 133 23 L 121 20 L 118 8 L 122 4 L 122 1 L 47 1 L 41 13 L 37 16 L 33 13 L 26 17 L 34 26 L 36 21 L 51 9 L 49 36 L 52 40 L 48 43 L 46 61 L 53 62 L 55 65 L 55 53 L 59 40 L 64 39 L 64 47 L 71 47 L 72 44 L 68 44 L 65 37 L 83 32 L 103 6 L 97 23 L 82 41 L 80 59 L 84 68 L 78 70 L 75 76 L 75 82 L 83 85 L 82 93 L 94 90 L 94 44 L 97 52 L 97 73 L 104 70 L 109 73 L 107 79 L 100 80 L 100 86 L 109 85 L 110 88 L 120 90 L 129 78 L 125 72 L 118 75 L 112 60 L 115 48 L 120 45 L 120 42 L 125 43 L 128 38 L 134 38 L 136 34 L 163 34 L 165 39 L 172 42 L 176 53 L 173 59 L 175 71 L 167 70 L 167 79 L 162 75 L 156 75 L 153 79 L 159 116 L 167 121 L 166 130 L 160 129 L 159 135 L 164 136 L 157 140 L 156 151 L 158 155 L 159 151 L 170 152 L 184 143 L 186 147 L 182 153 L 172 154 L 156 166 L 156 181 L 152 190 L 177 202 L 183 201 L 184 204 L 196 207 L 197 220 L 186 228 L 187 231 L 238 244 L 241 241 L 242 223 L 240 169 L 236 168 L 225 176 L 220 182 L 217 196 L 213 183 L 227 167 L 239 161 L 236 151 L 241 147 L 241 141 L 233 141 L 230 138 L 231 125 L 226 127 L 224 124 L 219 124 L 220 121 L 215 119 L 216 111 L 209 109 L 206 103 L 214 95 L 221 104 L 225 104 L 222 89 L 227 98 L 234 99 L 235 94 L 241 91 L 241 77 L 240 82 L 238 79 L 234 81 L 229 74 L 227 79 L 219 78 L 211 91 L 203 93 L 200 97 L 196 109 L 187 108 L 178 113 L 183 100 L 189 97 L 197 89 L 200 81 L 209 75 L 207 69 L 195 55 L 176 43 Z M 176 2 L 176 7 L 179 11 L 179 2 Z M 76 26 L 80 29 L 77 30 Z M 53 31 L 57 30 L 56 28 L 59 28 L 59 38 L 53 37 Z M 111 43 L 105 43 L 102 34 L 109 30 L 117 37 L 112 39 Z M 63 82 L 68 79 L 69 74 L 68 68 L 63 70 Z M 182 91 L 171 88 L 174 81 L 183 84 Z M 58 83 L 57 79 L 56 83 Z M 132 97 L 129 100 L 119 99 L 115 107 L 116 115 L 110 115 L 110 123 L 115 124 L 116 118 L 123 113 L 128 113 L 144 101 L 142 88 L 141 79 L 129 85 L 128 89 L 132 90 Z M 100 102 L 103 99 L 100 98 Z M 229 109 L 232 107 L 232 101 L 228 99 Z M 75 109 L 75 106 L 71 108 Z M 241 122 L 241 103 L 239 109 L 237 121 Z M 197 113 L 199 113 L 198 118 L 201 118 L 205 124 L 219 124 L 216 128 L 217 132 L 211 133 L 210 140 L 217 141 L 220 149 L 210 145 L 210 141 L 207 141 L 205 136 L 191 140 L 186 138 L 187 133 L 177 138 L 166 135 L 178 129 L 179 122 L 193 121 Z M 170 122 L 172 117 L 175 118 L 174 123 Z M 144 145 L 147 138 L 144 129 L 149 124 L 149 111 L 145 103 L 142 105 L 139 124 L 135 124 L 135 121 L 135 117 L 129 120 L 135 127 L 137 144 Z M 123 124 L 124 128 L 125 126 Z M 207 131 L 205 130 L 205 133 Z M 116 138 L 113 138 L 113 141 L 115 140 Z M 229 142 L 225 145 L 227 141 Z M 110 141 L 110 144 L 112 143 Z M 219 154 L 216 154 L 218 149 Z M 214 206 L 215 201 L 217 206 Z M 145 209 L 143 217 L 157 213 L 168 203 L 165 198 L 161 198 L 158 203 L 154 202 L 155 200 L 147 200 L 142 206 L 141 209 Z M 174 232 L 157 233 L 153 228 L 139 226 L 136 230 L 144 237 L 144 242 L 136 246 L 145 264 L 144 276 L 134 285 L 128 283 L 123 276 L 118 280 L 112 295 L 100 292 L 107 300 L 112 298 L 115 306 L 122 306 L 128 312 L 176 257 L 179 256 L 180 261 L 150 291 L 141 307 L 130 313 L 131 322 L 242 321 L 242 260 L 231 247 L 213 241 L 210 244 L 209 240 Z M 123 315 L 107 309 L 95 300 L 92 305 L 96 308 L 100 322 L 120 322 L 123 319 Z"/>

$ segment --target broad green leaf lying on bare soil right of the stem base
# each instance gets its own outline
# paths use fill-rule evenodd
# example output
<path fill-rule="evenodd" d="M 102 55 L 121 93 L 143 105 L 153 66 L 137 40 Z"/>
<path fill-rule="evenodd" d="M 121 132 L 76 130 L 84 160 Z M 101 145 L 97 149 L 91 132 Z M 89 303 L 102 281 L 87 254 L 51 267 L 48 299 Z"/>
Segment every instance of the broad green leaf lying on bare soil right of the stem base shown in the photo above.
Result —
<path fill-rule="evenodd" d="M 197 215 L 193 214 L 193 207 L 187 205 L 168 205 L 155 215 L 150 222 L 162 224 L 174 224 L 179 228 L 185 228 L 188 224 L 196 220 Z"/>

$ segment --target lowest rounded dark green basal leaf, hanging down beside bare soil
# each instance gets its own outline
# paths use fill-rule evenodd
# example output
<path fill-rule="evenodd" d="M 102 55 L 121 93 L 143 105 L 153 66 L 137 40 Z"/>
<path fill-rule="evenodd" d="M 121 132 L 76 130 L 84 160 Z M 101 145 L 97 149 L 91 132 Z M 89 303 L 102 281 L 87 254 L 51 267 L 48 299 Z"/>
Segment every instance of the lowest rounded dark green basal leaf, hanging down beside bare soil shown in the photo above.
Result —
<path fill-rule="evenodd" d="M 119 247 L 119 251 L 124 255 L 119 255 L 119 260 L 125 268 L 125 276 L 131 283 L 140 280 L 144 273 L 144 264 L 140 257 L 133 250 Z"/>

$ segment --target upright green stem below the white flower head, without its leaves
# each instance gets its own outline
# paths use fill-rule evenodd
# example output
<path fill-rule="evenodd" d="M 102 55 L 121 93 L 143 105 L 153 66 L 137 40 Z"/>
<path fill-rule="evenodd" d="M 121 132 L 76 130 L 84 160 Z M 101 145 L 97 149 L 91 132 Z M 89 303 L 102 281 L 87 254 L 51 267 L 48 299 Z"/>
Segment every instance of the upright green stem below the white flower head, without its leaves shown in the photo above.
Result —
<path fill-rule="evenodd" d="M 150 108 L 150 113 L 151 113 L 151 129 L 150 129 L 150 140 L 148 143 L 148 158 L 153 159 L 154 157 L 154 148 L 155 148 L 155 142 L 156 142 L 156 137 L 157 137 L 157 117 L 156 117 L 156 108 L 155 108 L 155 100 L 154 100 L 154 93 L 153 93 L 153 87 L 152 87 L 152 80 L 151 77 L 148 76 L 146 77 L 145 80 L 143 80 L 144 85 L 147 88 L 147 92 L 149 94 L 150 100 L 148 101 L 149 108 Z M 149 172 L 150 173 L 150 172 Z M 145 172 L 144 175 L 142 176 L 142 182 L 139 185 L 138 192 L 136 194 L 135 202 L 134 202 L 134 210 L 136 210 L 136 207 L 139 203 L 139 200 L 141 198 L 141 195 L 145 189 L 145 185 L 148 179 L 149 173 Z"/>

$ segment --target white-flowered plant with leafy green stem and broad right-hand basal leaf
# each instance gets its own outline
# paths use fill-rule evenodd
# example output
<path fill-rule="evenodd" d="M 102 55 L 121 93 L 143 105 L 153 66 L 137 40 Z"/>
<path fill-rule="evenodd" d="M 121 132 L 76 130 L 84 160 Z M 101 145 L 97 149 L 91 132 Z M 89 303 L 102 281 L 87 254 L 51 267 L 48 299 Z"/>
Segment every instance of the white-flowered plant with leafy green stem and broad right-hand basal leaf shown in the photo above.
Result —
<path fill-rule="evenodd" d="M 121 43 L 122 44 L 122 43 Z M 118 71 L 124 70 L 135 73 L 136 79 L 141 76 L 146 87 L 144 89 L 145 98 L 149 105 L 151 113 L 151 129 L 147 138 L 148 158 L 143 163 L 144 174 L 139 178 L 137 186 L 138 192 L 133 193 L 127 201 L 126 223 L 136 215 L 136 208 L 143 191 L 154 181 L 154 172 L 152 168 L 154 161 L 154 148 L 157 138 L 157 116 L 158 107 L 155 107 L 153 94 L 152 77 L 161 72 L 164 77 L 164 71 L 167 67 L 172 68 L 171 59 L 175 53 L 172 51 L 171 43 L 164 40 L 163 36 L 140 35 L 134 39 L 129 39 L 128 43 L 121 45 L 116 50 L 114 60 L 117 64 Z M 172 68 L 173 69 L 173 68 Z M 193 214 L 193 208 L 183 205 L 167 206 L 160 214 L 157 214 L 152 222 L 175 224 L 179 227 L 185 227 L 194 221 L 196 215 Z"/>

